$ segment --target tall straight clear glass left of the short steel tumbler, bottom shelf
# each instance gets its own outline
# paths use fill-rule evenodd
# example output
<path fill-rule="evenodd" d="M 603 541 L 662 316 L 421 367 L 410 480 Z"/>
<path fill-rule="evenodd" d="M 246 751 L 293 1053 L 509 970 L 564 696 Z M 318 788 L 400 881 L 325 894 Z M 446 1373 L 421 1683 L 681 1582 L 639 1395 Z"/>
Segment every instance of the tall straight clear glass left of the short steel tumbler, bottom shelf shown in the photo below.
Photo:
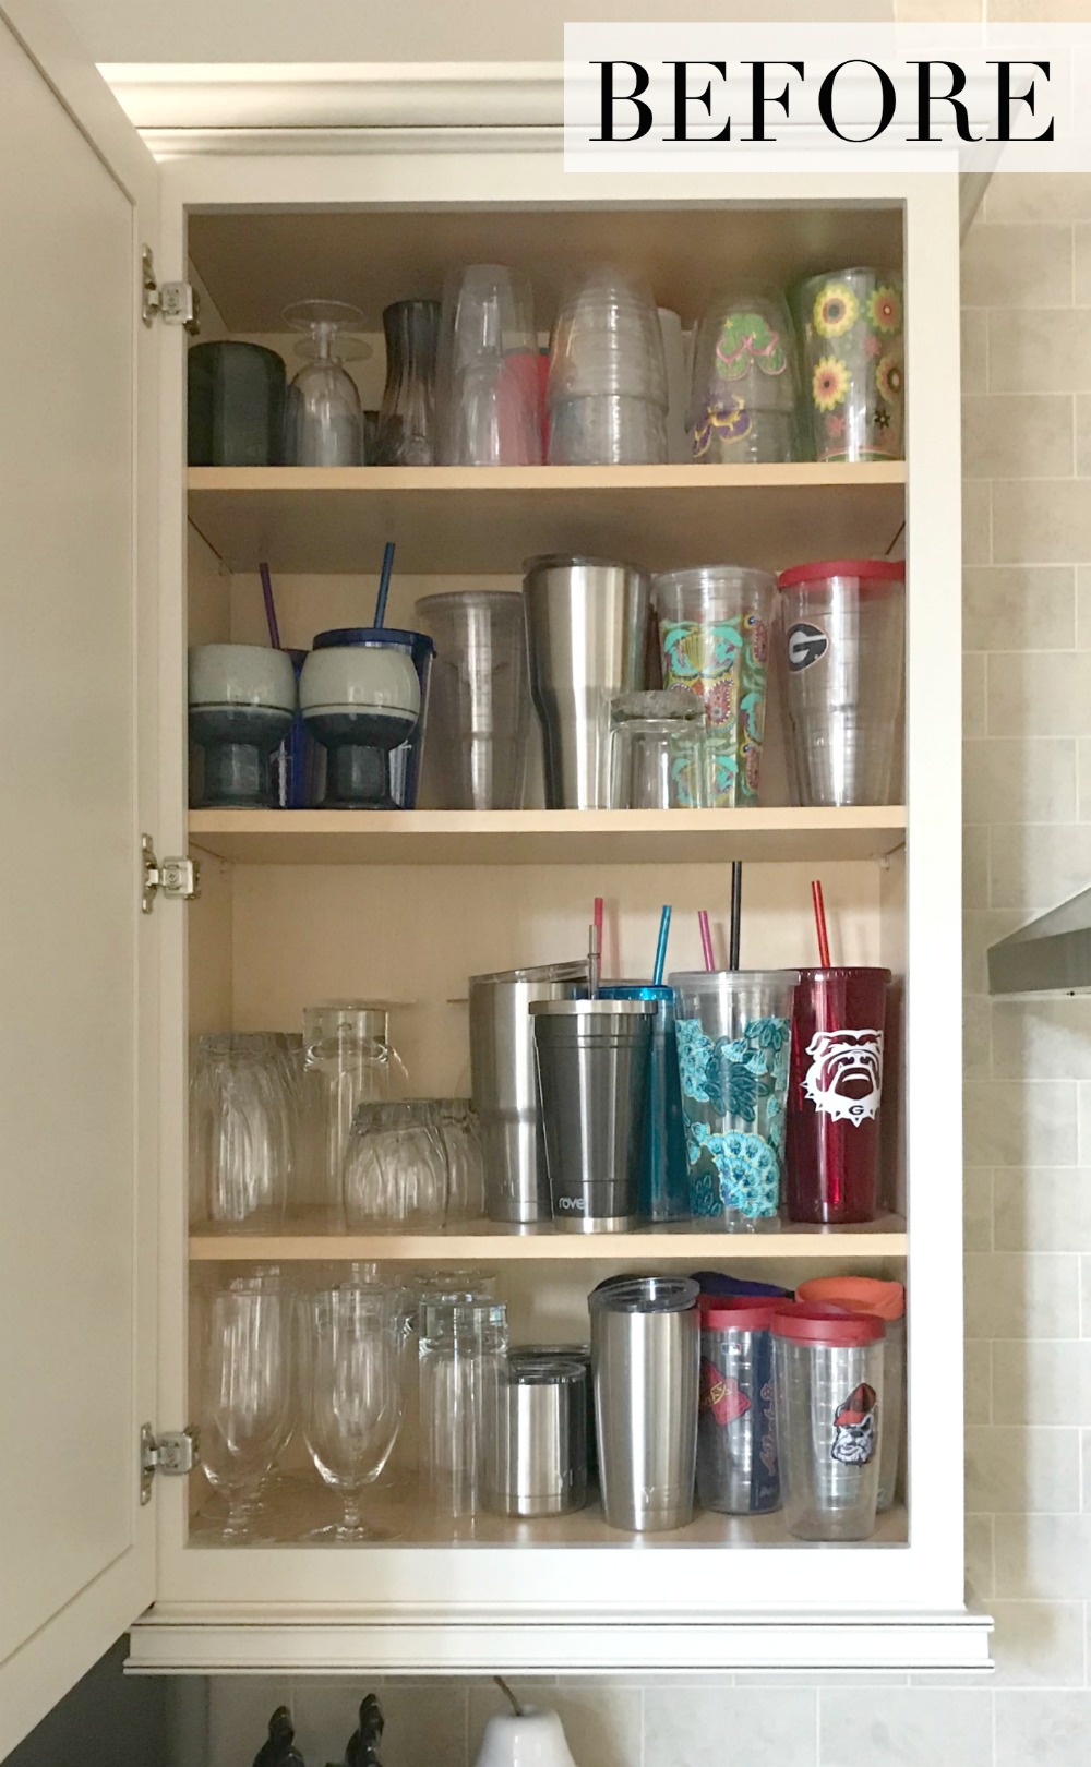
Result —
<path fill-rule="evenodd" d="M 490 1301 L 424 1301 L 421 1308 L 421 1483 L 439 1516 L 484 1509 L 507 1308 Z"/>

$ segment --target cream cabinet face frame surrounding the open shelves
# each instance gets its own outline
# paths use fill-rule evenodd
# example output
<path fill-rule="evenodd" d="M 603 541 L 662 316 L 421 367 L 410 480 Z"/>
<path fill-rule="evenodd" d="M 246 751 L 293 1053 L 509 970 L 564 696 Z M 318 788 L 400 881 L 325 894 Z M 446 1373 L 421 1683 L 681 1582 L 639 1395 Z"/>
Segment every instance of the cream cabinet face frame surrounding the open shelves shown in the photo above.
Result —
<path fill-rule="evenodd" d="M 412 133 L 408 133 L 412 134 Z M 292 1627 L 301 1620 L 341 1622 L 357 1638 L 357 1661 L 391 1668 L 525 1665 L 520 1649 L 550 1649 L 559 1665 L 591 1659 L 598 1666 L 638 1661 L 709 1661 L 706 1645 L 688 1643 L 691 1629 L 674 1626 L 675 1643 L 640 1642 L 640 1629 L 670 1631 L 674 1617 L 693 1615 L 700 1578 L 702 1615 L 730 1634 L 748 1615 L 796 1612 L 797 1617 L 886 1615 L 964 1620 L 962 1454 L 962 1210 L 960 1210 L 960 1067 L 944 1055 L 960 1050 L 960 454 L 958 454 L 958 189 L 953 173 L 822 177 L 785 175 L 656 180 L 654 198 L 633 177 L 564 178 L 561 155 L 525 140 L 504 145 L 490 131 L 479 150 L 414 152 L 368 143 L 359 154 L 253 154 L 179 159 L 163 166 L 164 277 L 186 276 L 186 212 L 209 207 L 359 207 L 378 205 L 584 205 L 665 207 L 691 201 L 794 205 L 845 201 L 900 205 L 905 216 L 907 288 L 907 802 L 912 841 L 907 864 L 907 991 L 905 1051 L 909 1071 L 907 1157 L 912 1235 L 912 1292 L 942 1295 L 942 1311 L 911 1308 L 909 1316 L 909 1486 L 911 1541 L 902 1548 L 838 1550 L 808 1546 L 766 1550 L 626 1546 L 460 1551 L 454 1548 L 368 1548 L 354 1551 L 279 1548 L 272 1551 L 202 1550 L 186 1546 L 186 1493 L 161 1483 L 159 1601 L 140 1657 L 180 1661 L 186 1647 L 157 1647 L 157 1626 L 196 1624 L 212 1615 L 205 1604 L 226 1604 L 235 1615 Z M 400 150 L 401 148 L 401 150 Z M 698 194 L 695 196 L 695 189 Z M 161 827 L 170 850 L 184 850 L 184 650 L 186 650 L 186 456 L 184 348 L 164 352 L 163 364 L 163 755 Z M 942 641 L 937 641 L 942 634 Z M 164 928 L 163 968 L 163 1207 L 161 1207 L 161 1419 L 184 1422 L 186 1385 L 186 931 L 184 914 Z M 942 1053 L 941 1053 L 942 1051 Z M 937 1157 L 939 1152 L 939 1157 Z M 725 1256 L 730 1240 L 725 1239 Z M 941 1417 L 955 1451 L 935 1449 Z M 914 1421 L 921 1419 L 919 1428 Z M 714 1553 L 714 1557 L 713 1557 Z M 350 1612 L 348 1612 L 350 1610 Z M 225 1612 L 223 1608 L 219 1610 Z M 173 1617 L 173 1620 L 172 1620 Z M 534 1629 L 546 1626 L 553 1645 L 538 1647 Z M 387 1634 L 382 1633 L 387 1627 Z M 375 1631 L 373 1631 L 375 1629 Z M 965 1633 L 965 1620 L 960 1627 Z M 470 1634 L 479 1643 L 470 1647 Z M 562 1636 L 580 1640 L 561 1643 Z M 700 1629 L 706 1636 L 706 1629 Z M 707 1634 L 709 1638 L 713 1633 Z M 983 1636 L 983 1634 L 981 1634 Z M 196 1638 L 196 1634 L 193 1634 Z M 304 1650 L 301 1661 L 311 1661 Z M 370 1640 L 359 1643 L 361 1638 Z M 385 1638 L 385 1642 L 384 1642 Z M 463 1643 L 458 1643 L 458 1638 Z M 522 1638 L 520 1645 L 516 1640 Z M 398 1640 L 393 1643 L 391 1640 Z M 509 1640 L 509 1643 L 506 1643 Z M 209 1634 L 193 1643 L 200 1654 Z M 271 1661 L 274 1645 L 255 1647 Z M 265 1656 L 262 1656 L 262 1649 Z M 315 1668 L 336 1657 L 315 1649 Z M 720 1647 L 718 1661 L 753 1663 L 760 1650 Z M 757 1647 L 755 1647 L 757 1649 Z M 780 1647 L 778 1647 L 780 1649 Z M 246 1656 L 246 1647 L 240 1647 Z M 739 1656 L 737 1652 L 743 1650 Z M 960 1645 L 957 1663 L 987 1665 L 985 1645 Z M 507 1652 L 507 1654 L 506 1654 Z M 875 1661 L 884 1657 L 875 1647 Z M 690 1656 L 688 1656 L 690 1654 Z M 896 1656 L 896 1654 L 895 1654 Z M 925 1652 L 927 1656 L 927 1652 Z M 294 1656 L 294 1661 L 297 1657 Z M 836 1657 L 835 1657 L 836 1659 Z M 858 1649 L 854 1659 L 868 1661 Z M 189 1659 L 187 1659 L 189 1661 Z M 248 1659 L 249 1661 L 249 1659 Z M 552 1661 L 552 1657 L 550 1657 Z M 790 1650 L 769 1661 L 812 1661 Z M 843 1659 L 842 1659 L 843 1661 Z M 896 1657 L 912 1666 L 909 1657 Z M 928 1657 L 935 1661 L 935 1657 Z M 919 1666 L 919 1665 L 918 1665 Z"/>

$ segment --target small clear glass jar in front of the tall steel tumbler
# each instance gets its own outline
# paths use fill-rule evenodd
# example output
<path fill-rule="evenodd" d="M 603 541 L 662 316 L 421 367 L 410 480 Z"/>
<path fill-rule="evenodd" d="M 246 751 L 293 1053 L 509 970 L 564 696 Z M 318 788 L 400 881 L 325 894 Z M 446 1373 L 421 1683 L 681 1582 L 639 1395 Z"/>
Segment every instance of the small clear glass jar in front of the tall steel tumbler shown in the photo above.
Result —
<path fill-rule="evenodd" d="M 610 707 L 610 808 L 702 809 L 706 719 L 695 693 L 624 693 Z"/>

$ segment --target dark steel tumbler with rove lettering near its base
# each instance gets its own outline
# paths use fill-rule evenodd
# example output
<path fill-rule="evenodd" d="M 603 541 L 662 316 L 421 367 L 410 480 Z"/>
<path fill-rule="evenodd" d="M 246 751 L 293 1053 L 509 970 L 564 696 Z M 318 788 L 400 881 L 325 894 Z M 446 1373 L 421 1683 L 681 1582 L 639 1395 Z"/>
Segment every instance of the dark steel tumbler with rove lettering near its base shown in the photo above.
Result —
<path fill-rule="evenodd" d="M 654 1000 L 536 1000 L 534 1053 L 553 1225 L 624 1233 L 637 1223 Z"/>

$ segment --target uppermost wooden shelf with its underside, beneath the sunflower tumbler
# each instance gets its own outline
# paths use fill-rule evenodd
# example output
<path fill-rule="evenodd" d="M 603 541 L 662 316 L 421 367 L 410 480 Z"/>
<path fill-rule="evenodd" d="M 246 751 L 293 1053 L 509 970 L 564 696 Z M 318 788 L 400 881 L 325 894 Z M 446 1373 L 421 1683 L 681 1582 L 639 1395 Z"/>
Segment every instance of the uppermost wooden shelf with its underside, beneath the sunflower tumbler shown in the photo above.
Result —
<path fill-rule="evenodd" d="M 582 551 L 649 571 L 732 558 L 785 569 L 884 553 L 904 461 L 790 466 L 191 466 L 189 519 L 232 571 L 520 573 Z M 836 497 L 829 493 L 836 491 Z"/>

